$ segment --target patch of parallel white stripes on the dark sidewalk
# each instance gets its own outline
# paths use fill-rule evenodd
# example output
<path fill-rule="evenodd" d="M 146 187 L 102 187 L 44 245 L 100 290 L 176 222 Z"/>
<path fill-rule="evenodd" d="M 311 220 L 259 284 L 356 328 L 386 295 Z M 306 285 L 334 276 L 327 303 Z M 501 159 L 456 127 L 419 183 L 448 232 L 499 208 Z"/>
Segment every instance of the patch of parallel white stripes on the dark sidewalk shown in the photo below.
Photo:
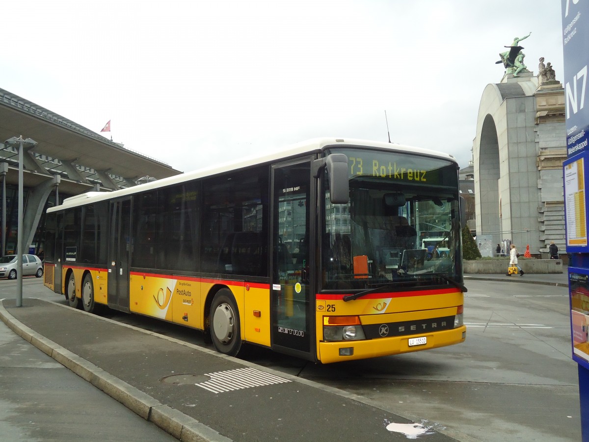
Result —
<path fill-rule="evenodd" d="M 238 368 L 237 370 L 206 373 L 206 375 L 211 377 L 210 380 L 194 385 L 212 391 L 213 393 L 291 382 L 280 376 L 274 376 L 273 374 L 265 373 L 255 368 Z"/>

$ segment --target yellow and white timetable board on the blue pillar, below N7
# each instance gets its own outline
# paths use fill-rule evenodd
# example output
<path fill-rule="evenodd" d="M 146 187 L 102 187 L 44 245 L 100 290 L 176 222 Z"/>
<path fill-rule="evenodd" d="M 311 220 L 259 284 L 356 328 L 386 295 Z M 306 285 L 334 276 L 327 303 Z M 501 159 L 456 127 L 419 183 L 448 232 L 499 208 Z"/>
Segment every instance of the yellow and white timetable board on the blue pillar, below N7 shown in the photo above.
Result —
<path fill-rule="evenodd" d="M 589 187 L 589 151 L 564 161 L 565 223 L 567 226 L 567 252 L 588 253 L 587 189 Z"/>

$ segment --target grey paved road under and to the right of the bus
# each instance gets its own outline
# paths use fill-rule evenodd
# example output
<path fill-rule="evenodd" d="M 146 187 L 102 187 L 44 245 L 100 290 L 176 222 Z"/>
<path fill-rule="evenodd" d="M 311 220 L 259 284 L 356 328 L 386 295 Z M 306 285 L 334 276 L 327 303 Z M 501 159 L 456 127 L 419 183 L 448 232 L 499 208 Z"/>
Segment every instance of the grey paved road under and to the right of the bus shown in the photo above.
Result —
<path fill-rule="evenodd" d="M 541 284 L 522 284 L 524 278 L 530 282 L 527 276 L 480 276 L 487 281 L 467 276 L 469 331 L 461 345 L 338 367 L 264 351 L 253 352 L 247 359 L 363 395 L 386 410 L 414 416 L 414 421 L 425 417 L 443 423 L 481 441 L 580 440 L 566 276 L 534 275 Z M 30 292 L 37 292 L 34 281 L 25 280 Z M 4 290 L 0 281 L 0 298 Z M 45 289 L 39 294 L 63 300 Z M 137 316 L 120 315 L 120 319 L 143 322 L 147 328 L 203 344 L 198 334 L 184 328 Z"/>

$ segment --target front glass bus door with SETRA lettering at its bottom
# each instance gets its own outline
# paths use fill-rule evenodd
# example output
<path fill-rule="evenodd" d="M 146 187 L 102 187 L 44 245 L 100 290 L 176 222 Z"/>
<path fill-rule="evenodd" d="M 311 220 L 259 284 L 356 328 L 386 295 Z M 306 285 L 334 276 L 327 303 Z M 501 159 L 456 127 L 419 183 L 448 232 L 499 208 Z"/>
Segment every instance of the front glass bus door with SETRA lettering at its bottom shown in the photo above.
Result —
<path fill-rule="evenodd" d="M 272 167 L 272 347 L 305 359 L 312 359 L 315 335 L 310 325 L 309 226 L 315 212 L 310 164 L 306 159 Z"/>

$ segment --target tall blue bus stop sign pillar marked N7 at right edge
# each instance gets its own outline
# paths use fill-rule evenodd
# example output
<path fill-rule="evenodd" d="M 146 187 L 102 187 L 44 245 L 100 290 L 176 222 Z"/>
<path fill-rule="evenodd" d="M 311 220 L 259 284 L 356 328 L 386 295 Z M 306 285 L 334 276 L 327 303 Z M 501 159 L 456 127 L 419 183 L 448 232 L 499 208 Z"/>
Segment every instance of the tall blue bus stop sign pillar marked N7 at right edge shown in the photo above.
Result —
<path fill-rule="evenodd" d="M 571 340 L 578 364 L 581 435 L 589 440 L 589 2 L 561 0 L 562 55 L 567 128 L 567 159 L 563 162 L 564 206 L 568 263 Z"/>

